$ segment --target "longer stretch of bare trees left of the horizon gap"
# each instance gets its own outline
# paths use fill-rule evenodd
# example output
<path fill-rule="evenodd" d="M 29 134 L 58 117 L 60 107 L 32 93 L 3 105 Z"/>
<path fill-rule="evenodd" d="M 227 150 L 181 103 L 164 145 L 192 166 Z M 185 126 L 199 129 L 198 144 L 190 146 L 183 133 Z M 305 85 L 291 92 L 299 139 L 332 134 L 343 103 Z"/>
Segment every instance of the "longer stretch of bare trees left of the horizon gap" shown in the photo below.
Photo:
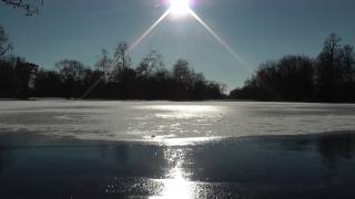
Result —
<path fill-rule="evenodd" d="M 65 97 L 108 100 L 199 101 L 225 97 L 220 83 L 194 72 L 185 60 L 168 70 L 162 56 L 151 51 L 138 65 L 120 43 L 113 55 L 102 50 L 90 67 L 77 60 L 62 60 L 54 70 L 9 55 L 11 44 L 0 28 L 0 97 Z"/>

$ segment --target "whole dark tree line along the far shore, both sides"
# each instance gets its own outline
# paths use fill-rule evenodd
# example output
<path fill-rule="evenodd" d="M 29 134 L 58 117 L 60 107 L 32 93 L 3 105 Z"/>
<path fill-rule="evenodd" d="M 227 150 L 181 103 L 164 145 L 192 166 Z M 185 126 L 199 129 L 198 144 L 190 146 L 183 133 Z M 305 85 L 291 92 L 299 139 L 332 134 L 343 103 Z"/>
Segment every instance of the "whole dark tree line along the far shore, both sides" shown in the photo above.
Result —
<path fill-rule="evenodd" d="M 355 55 L 331 34 L 316 57 L 286 55 L 262 63 L 232 100 L 355 102 Z M 54 70 L 40 67 L 10 54 L 9 36 L 0 27 L 0 97 L 65 97 L 110 100 L 221 100 L 225 86 L 196 73 L 185 60 L 171 70 L 151 51 L 138 65 L 120 43 L 111 55 L 102 50 L 98 62 L 87 66 L 62 60 Z"/>

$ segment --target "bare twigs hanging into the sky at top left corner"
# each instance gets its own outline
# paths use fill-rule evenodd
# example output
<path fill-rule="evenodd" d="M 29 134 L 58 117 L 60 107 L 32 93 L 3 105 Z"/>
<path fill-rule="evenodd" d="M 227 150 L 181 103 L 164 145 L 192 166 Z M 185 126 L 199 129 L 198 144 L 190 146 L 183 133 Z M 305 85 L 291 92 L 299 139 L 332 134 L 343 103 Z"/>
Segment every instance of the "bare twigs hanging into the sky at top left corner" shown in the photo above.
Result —
<path fill-rule="evenodd" d="M 26 11 L 26 15 L 31 17 L 40 13 L 38 4 L 43 6 L 44 0 L 34 0 L 40 2 L 32 2 L 32 3 L 29 2 L 29 0 L 0 0 L 0 1 L 14 9 L 22 9 Z"/>

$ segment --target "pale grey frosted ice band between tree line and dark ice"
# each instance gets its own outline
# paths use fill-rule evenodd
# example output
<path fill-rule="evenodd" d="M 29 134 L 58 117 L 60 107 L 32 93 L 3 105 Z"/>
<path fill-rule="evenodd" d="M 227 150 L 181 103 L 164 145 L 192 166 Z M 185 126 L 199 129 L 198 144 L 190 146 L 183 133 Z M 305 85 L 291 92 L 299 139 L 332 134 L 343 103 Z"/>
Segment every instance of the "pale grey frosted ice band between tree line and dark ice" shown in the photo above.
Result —
<path fill-rule="evenodd" d="M 0 102 L 1 132 L 105 140 L 355 129 L 355 105 L 247 102 Z"/>

